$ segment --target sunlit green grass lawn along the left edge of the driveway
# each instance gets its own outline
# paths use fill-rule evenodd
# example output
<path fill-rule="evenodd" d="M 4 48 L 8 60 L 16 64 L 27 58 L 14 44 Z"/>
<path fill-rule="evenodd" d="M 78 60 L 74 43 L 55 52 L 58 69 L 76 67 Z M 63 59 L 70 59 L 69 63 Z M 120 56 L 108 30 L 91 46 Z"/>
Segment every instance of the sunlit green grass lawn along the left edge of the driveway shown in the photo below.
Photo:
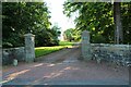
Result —
<path fill-rule="evenodd" d="M 73 42 L 68 42 L 68 41 L 60 41 L 60 46 L 55 46 L 55 47 L 37 47 L 35 48 L 35 55 L 36 58 L 49 54 L 51 52 L 61 50 L 63 48 L 70 48 L 73 46 Z"/>

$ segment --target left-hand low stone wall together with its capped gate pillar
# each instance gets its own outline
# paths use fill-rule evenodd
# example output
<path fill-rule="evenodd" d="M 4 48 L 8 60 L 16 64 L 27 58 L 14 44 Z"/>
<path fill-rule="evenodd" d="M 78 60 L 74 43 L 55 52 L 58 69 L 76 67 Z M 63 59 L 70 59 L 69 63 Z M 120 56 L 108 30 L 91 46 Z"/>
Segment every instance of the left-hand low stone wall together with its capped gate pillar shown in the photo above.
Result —
<path fill-rule="evenodd" d="M 19 62 L 34 62 L 35 60 L 35 35 L 25 35 L 25 47 L 2 49 L 2 64 L 12 64 L 13 59 Z"/>

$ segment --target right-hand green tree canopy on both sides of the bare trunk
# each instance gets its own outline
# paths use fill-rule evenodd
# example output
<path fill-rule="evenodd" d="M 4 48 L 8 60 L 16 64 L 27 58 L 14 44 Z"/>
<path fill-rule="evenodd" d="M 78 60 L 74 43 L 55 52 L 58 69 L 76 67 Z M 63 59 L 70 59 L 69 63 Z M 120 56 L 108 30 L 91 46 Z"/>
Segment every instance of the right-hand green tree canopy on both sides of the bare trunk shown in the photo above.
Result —
<path fill-rule="evenodd" d="M 131 36 L 131 2 L 120 4 L 123 44 L 131 44 L 129 38 Z M 91 42 L 115 42 L 114 4 L 109 2 L 64 2 L 63 7 L 63 13 L 69 17 L 72 13 L 79 12 L 79 16 L 74 20 L 76 29 L 90 30 Z"/>

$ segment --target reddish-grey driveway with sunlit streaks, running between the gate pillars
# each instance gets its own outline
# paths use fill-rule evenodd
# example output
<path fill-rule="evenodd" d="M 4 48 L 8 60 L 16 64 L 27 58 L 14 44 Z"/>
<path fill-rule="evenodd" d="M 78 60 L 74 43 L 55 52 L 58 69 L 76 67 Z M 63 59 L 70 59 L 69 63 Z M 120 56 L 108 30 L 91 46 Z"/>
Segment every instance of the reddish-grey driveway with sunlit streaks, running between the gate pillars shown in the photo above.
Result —
<path fill-rule="evenodd" d="M 35 63 L 3 70 L 5 85 L 128 85 L 127 67 L 79 61 L 80 49 L 68 48 Z"/>

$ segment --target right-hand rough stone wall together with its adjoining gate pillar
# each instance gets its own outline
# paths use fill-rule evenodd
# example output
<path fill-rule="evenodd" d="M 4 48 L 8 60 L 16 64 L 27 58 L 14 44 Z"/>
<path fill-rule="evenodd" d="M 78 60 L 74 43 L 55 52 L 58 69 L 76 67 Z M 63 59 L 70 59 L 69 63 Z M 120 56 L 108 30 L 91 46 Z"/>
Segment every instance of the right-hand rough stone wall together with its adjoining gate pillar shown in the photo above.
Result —
<path fill-rule="evenodd" d="M 82 34 L 82 58 L 114 62 L 117 64 L 131 64 L 131 45 L 90 44 L 90 32 Z"/>

